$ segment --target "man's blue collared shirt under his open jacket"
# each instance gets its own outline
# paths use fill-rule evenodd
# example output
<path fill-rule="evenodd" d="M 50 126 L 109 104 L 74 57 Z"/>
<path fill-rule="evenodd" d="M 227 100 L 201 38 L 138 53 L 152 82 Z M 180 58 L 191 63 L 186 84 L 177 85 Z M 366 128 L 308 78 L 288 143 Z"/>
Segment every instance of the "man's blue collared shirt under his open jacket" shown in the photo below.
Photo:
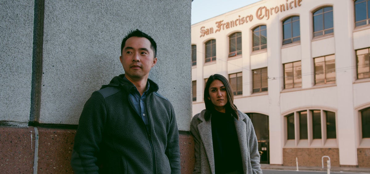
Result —
<path fill-rule="evenodd" d="M 128 80 L 126 77 L 124 79 Z M 147 113 L 147 106 L 145 103 L 145 99 L 147 98 L 147 92 L 149 90 L 149 81 L 147 81 L 147 90 L 140 96 L 139 91 L 136 87 L 131 88 L 131 91 L 128 94 L 129 100 L 131 100 L 132 105 L 134 105 L 134 109 L 137 114 L 140 115 L 142 121 L 145 123 L 145 128 L 149 130 L 149 117 Z"/>

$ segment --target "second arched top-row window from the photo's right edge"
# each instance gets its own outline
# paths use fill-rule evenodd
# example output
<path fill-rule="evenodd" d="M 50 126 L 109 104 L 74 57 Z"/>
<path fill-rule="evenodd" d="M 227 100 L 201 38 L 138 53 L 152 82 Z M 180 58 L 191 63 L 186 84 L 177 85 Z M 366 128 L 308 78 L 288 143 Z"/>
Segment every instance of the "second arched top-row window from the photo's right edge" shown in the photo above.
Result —
<path fill-rule="evenodd" d="M 322 7 L 314 11 L 313 36 L 327 35 L 333 32 L 333 7 Z"/>

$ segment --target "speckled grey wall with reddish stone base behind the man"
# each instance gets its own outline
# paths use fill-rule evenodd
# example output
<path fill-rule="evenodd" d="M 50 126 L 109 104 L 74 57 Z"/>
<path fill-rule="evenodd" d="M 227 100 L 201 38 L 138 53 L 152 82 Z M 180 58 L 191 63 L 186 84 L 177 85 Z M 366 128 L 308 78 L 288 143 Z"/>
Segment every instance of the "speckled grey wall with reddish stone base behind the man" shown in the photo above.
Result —
<path fill-rule="evenodd" d="M 182 172 L 192 171 L 190 0 L 3 0 L 0 15 L 0 163 L 19 163 L 6 171 L 71 173 L 83 105 L 124 73 L 121 41 L 136 28 L 157 42 L 149 78 L 174 105 Z M 12 155 L 14 145 L 23 156 Z"/>

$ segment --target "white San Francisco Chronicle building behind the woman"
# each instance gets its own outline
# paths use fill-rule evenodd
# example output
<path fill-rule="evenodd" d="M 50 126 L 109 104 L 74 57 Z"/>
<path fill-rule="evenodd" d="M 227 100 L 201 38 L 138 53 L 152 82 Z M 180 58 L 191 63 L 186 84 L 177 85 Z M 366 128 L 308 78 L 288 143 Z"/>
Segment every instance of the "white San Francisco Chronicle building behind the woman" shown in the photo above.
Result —
<path fill-rule="evenodd" d="M 370 168 L 369 23 L 370 0 L 262 0 L 192 25 L 193 115 L 221 74 L 261 163 Z"/>

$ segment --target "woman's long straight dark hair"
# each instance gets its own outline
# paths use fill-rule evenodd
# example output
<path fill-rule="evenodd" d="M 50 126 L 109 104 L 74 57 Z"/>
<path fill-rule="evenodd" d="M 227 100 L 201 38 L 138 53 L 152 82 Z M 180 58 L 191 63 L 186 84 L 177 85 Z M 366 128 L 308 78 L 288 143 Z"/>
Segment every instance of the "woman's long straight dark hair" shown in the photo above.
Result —
<path fill-rule="evenodd" d="M 206 86 L 204 88 L 204 104 L 206 105 L 205 120 L 208 121 L 211 118 L 211 112 L 215 110 L 215 106 L 212 101 L 208 99 L 209 97 L 209 86 L 214 80 L 220 80 L 226 88 L 226 94 L 228 94 L 228 102 L 225 105 L 226 112 L 229 112 L 233 117 L 239 119 L 238 111 L 234 105 L 234 94 L 232 92 L 229 81 L 220 74 L 213 74 L 209 76 Z"/>

